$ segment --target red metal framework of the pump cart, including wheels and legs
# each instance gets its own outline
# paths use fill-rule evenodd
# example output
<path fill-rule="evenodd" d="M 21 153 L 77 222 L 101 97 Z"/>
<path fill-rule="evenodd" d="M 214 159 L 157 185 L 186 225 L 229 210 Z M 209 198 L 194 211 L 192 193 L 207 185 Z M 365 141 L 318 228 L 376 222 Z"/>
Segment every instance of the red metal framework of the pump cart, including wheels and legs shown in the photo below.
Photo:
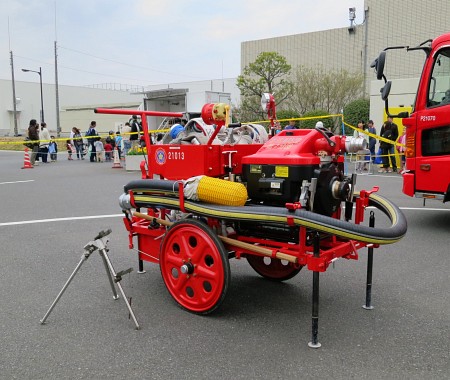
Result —
<path fill-rule="evenodd" d="M 206 109 L 211 111 L 214 107 L 208 105 Z M 242 174 L 243 164 L 287 167 L 305 165 L 319 168 L 325 156 L 330 158 L 341 172 L 343 170 L 344 157 L 341 152 L 344 149 L 345 137 L 326 138 L 319 130 L 282 131 L 264 145 L 213 145 L 214 137 L 223 126 L 223 121 L 217 121 L 219 117 L 215 118 L 219 114 L 216 110 L 216 115 L 211 113 L 214 111 L 210 112 L 210 119 L 214 119 L 218 125 L 206 145 L 157 145 L 152 144 L 149 137 L 146 117 L 180 117 L 180 113 L 110 109 L 98 109 L 96 112 L 141 116 L 148 158 L 147 162 L 141 163 L 143 179 L 161 178 L 180 181 L 197 175 L 208 175 L 218 178 L 229 176 L 230 180 L 233 180 L 234 175 Z M 220 112 L 223 112 L 223 108 Z M 272 116 L 275 117 L 275 109 Z M 273 123 L 273 120 L 271 121 Z M 255 154 L 256 152 L 258 153 Z M 369 196 L 377 190 L 377 187 L 370 191 L 363 190 L 356 197 L 355 224 L 363 222 L 364 211 L 369 205 Z M 128 191 L 128 194 L 130 204 L 140 213 L 141 211 L 136 207 L 133 191 Z M 136 196 L 137 199 L 138 196 Z M 185 202 L 181 181 L 178 186 L 177 203 L 173 206 L 175 211 L 186 212 L 185 207 L 190 209 L 189 203 Z M 168 207 L 172 208 L 172 206 Z M 301 208 L 301 204 L 287 203 L 285 207 L 295 212 Z M 284 223 L 286 223 L 286 229 L 298 228 L 298 239 L 295 239 L 297 243 L 245 236 L 239 232 L 238 223 L 233 224 L 219 217 L 204 217 L 199 213 L 192 218 L 192 215 L 183 216 L 180 222 L 174 224 L 166 218 L 172 210 L 156 206 L 150 206 L 146 210 L 146 215 L 138 216 L 131 211 L 124 211 L 127 214 L 124 224 L 129 234 L 130 249 L 134 248 L 133 239 L 137 238 L 139 270 L 143 271 L 143 261 L 159 264 L 169 293 L 180 306 L 191 312 L 207 314 L 221 304 L 230 281 L 228 259 L 233 255 L 237 259 L 247 258 L 257 273 L 272 280 L 284 281 L 292 278 L 304 267 L 314 272 L 312 340 L 309 346 L 318 348 L 320 347 L 317 340 L 319 273 L 325 272 L 336 259 L 357 260 L 358 251 L 363 247 L 369 248 L 365 307 L 371 308 L 369 290 L 372 282 L 371 255 L 373 248 L 378 247 L 377 244 L 338 237 L 325 232 L 319 234 L 311 227 L 312 225 L 296 227 L 294 217 L 289 216 L 284 218 Z M 333 211 L 332 217 L 340 220 L 341 207 Z M 217 213 L 217 215 L 223 214 Z M 346 215 L 346 218 L 350 217 Z M 369 226 L 374 227 L 374 223 L 375 218 L 372 212 Z M 229 232 L 230 227 L 236 228 L 237 232 L 233 230 Z M 269 260 L 260 259 L 266 257 Z M 266 261 L 270 263 L 266 264 Z M 287 261 L 287 265 L 284 265 L 283 261 Z"/>

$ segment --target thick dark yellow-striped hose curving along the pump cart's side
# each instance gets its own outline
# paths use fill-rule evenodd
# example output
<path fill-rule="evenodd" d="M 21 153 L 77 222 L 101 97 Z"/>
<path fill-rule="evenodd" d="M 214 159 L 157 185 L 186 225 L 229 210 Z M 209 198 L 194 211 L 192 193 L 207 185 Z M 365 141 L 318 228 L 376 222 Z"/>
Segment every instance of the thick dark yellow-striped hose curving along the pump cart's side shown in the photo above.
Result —
<path fill-rule="evenodd" d="M 133 192 L 136 207 L 166 207 L 179 209 L 178 182 L 161 180 L 136 180 L 125 186 L 125 191 Z M 355 194 L 357 198 L 359 194 Z M 286 225 L 289 219 L 299 226 L 336 235 L 343 238 L 373 244 L 392 244 L 400 240 L 407 230 L 407 222 L 401 210 L 388 199 L 372 193 L 369 205 L 382 211 L 391 221 L 391 226 L 368 227 L 307 210 L 291 212 L 283 207 L 273 206 L 219 206 L 185 199 L 186 211 L 206 217 L 223 220 L 252 221 Z"/>

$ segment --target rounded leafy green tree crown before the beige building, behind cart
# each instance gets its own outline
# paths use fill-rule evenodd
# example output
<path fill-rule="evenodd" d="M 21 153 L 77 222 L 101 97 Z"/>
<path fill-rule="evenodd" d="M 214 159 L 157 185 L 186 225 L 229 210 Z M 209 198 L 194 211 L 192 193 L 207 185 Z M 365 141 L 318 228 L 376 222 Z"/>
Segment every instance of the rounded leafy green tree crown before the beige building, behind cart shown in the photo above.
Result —
<path fill-rule="evenodd" d="M 265 118 L 261 110 L 261 96 L 265 92 L 274 95 L 277 105 L 286 100 L 292 92 L 290 71 L 285 57 L 275 52 L 260 53 L 236 81 L 241 91 L 240 116 L 249 121 Z"/>

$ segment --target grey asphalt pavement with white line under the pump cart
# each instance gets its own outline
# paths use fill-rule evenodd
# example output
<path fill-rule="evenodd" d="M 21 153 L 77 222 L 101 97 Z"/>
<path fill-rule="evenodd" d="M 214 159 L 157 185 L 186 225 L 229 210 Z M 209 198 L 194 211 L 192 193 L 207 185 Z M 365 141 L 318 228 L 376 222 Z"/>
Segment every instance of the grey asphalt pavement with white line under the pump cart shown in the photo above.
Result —
<path fill-rule="evenodd" d="M 179 308 L 158 265 L 137 273 L 118 198 L 140 178 L 112 163 L 68 161 L 21 169 L 0 152 L 1 379 L 443 379 L 450 377 L 450 204 L 401 193 L 398 174 L 358 176 L 400 206 L 408 232 L 375 250 L 373 310 L 364 310 L 366 250 L 320 275 L 319 342 L 311 349 L 312 272 L 285 283 L 232 260 L 214 314 Z M 384 223 L 377 215 L 376 223 Z M 109 257 L 141 330 L 113 300 L 94 252 L 45 325 L 40 320 L 80 262 L 111 228 Z"/>

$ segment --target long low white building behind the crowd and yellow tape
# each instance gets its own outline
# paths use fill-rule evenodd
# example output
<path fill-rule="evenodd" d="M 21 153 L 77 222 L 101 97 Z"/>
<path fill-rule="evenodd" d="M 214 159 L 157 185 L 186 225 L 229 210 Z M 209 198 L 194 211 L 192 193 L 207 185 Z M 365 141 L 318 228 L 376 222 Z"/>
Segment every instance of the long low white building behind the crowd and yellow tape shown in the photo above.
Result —
<path fill-rule="evenodd" d="M 43 83 L 45 122 L 56 133 L 55 85 Z M 128 121 L 127 115 L 95 114 L 94 109 L 128 108 L 169 112 L 200 112 L 205 103 L 237 104 L 239 90 L 236 79 L 227 78 L 197 82 L 149 86 L 142 92 L 129 92 L 125 87 L 115 89 L 59 85 L 60 126 L 62 135 L 72 127 L 87 130 L 92 120 L 99 132 L 118 130 Z M 15 81 L 17 129 L 24 134 L 29 121 L 40 121 L 40 84 Z M 14 136 L 14 107 L 11 80 L 0 80 L 0 135 Z M 156 128 L 162 118 L 149 118 L 150 128 Z"/>

